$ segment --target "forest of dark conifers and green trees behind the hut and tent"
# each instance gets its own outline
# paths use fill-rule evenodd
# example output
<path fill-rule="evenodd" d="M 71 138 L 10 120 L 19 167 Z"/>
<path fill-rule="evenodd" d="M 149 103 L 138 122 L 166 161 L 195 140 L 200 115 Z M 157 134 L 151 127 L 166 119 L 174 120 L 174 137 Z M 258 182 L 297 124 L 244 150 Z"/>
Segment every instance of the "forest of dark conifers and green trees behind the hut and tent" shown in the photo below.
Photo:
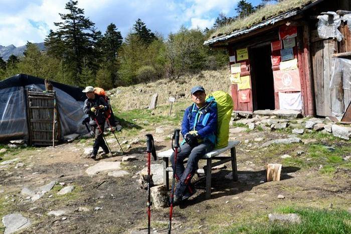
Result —
<path fill-rule="evenodd" d="M 254 7 L 241 0 L 235 9 L 237 16 L 221 13 L 211 29 L 182 26 L 166 38 L 137 19 L 123 38 L 114 23 L 105 33 L 98 31 L 84 9 L 78 8 L 78 1 L 70 0 L 66 12 L 59 14 L 61 21 L 54 23 L 57 29 L 50 30 L 45 39 L 46 51 L 28 42 L 23 57 L 11 55 L 8 61 L 0 57 L 0 80 L 25 73 L 74 86 L 111 89 L 218 69 L 227 64 L 227 51 L 211 50 L 204 41 L 217 28 L 247 17 L 269 1 Z"/>

